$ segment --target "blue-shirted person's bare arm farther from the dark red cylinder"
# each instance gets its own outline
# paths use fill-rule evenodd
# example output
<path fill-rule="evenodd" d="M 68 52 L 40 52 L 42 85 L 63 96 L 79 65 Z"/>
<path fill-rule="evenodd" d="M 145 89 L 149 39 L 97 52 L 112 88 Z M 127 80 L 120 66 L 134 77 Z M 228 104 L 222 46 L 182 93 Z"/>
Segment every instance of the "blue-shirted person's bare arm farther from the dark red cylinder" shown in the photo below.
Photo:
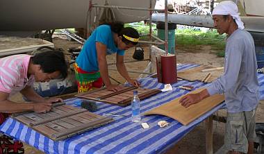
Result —
<path fill-rule="evenodd" d="M 96 42 L 96 49 L 97 49 L 97 60 L 98 60 L 99 71 L 101 74 L 101 78 L 104 81 L 104 84 L 106 85 L 108 90 L 114 90 L 114 91 L 118 90 L 119 89 L 118 86 L 113 85 L 111 83 L 108 75 L 108 66 L 106 61 L 107 46 L 100 42 Z"/>

